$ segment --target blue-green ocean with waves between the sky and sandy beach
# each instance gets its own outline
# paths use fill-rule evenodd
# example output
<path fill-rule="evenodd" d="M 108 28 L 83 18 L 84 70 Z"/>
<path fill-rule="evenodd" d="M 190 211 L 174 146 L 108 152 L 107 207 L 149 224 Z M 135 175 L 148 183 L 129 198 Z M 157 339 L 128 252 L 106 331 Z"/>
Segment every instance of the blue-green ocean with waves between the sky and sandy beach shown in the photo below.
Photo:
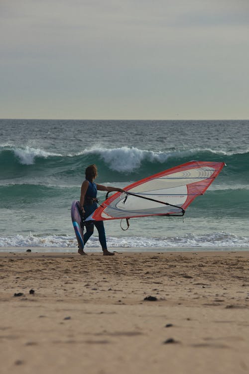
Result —
<path fill-rule="evenodd" d="M 70 208 L 89 164 L 98 167 L 97 183 L 125 187 L 191 160 L 227 166 L 183 218 L 131 218 L 127 231 L 106 221 L 108 247 L 248 248 L 248 120 L 0 120 L 0 251 L 77 251 Z M 96 231 L 86 251 L 100 250 Z"/>

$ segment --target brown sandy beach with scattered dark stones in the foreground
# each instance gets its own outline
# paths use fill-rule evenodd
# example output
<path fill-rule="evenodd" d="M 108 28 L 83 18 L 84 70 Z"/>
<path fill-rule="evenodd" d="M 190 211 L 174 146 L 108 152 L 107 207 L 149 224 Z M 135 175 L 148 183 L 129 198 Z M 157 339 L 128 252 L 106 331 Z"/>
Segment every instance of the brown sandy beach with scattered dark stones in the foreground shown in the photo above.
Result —
<path fill-rule="evenodd" d="M 0 282 L 1 373 L 249 373 L 248 251 L 23 248 Z"/>

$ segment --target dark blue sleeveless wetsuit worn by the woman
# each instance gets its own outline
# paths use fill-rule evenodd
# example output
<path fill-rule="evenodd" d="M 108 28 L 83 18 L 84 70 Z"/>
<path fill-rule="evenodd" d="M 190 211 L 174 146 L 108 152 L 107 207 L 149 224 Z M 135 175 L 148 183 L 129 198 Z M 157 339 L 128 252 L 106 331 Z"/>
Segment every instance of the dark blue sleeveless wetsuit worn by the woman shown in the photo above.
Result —
<path fill-rule="evenodd" d="M 88 181 L 88 180 L 87 180 Z M 92 214 L 98 207 L 97 202 L 93 201 L 93 198 L 96 198 L 97 196 L 97 185 L 94 182 L 89 182 L 87 192 L 85 195 L 85 200 L 84 200 L 84 209 L 85 209 L 85 214 L 84 214 L 84 219 L 86 219 L 90 214 Z M 99 240 L 100 244 L 102 246 L 102 249 L 107 249 L 107 240 L 106 240 L 106 233 L 105 233 L 105 227 L 103 221 L 94 221 L 94 222 L 89 222 L 86 224 L 86 233 L 84 234 L 84 245 L 90 238 L 90 236 L 94 232 L 94 226 L 96 226 L 98 233 L 99 233 Z"/>

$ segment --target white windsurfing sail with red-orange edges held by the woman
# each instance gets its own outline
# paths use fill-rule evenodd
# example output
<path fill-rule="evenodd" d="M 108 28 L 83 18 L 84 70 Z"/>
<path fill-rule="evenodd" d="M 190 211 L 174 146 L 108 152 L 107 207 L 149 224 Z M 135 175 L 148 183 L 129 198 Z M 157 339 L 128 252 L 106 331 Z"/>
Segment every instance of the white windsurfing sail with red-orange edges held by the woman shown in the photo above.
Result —
<path fill-rule="evenodd" d="M 182 216 L 189 204 L 214 182 L 225 163 L 190 161 L 144 178 L 102 202 L 88 220 Z"/>

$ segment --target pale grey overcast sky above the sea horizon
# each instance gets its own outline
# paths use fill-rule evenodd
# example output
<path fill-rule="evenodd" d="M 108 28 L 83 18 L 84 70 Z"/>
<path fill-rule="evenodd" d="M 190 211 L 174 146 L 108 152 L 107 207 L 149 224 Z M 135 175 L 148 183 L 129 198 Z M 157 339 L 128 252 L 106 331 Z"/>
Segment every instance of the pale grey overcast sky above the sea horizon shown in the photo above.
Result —
<path fill-rule="evenodd" d="M 0 118 L 249 119 L 249 1 L 0 0 Z"/>

